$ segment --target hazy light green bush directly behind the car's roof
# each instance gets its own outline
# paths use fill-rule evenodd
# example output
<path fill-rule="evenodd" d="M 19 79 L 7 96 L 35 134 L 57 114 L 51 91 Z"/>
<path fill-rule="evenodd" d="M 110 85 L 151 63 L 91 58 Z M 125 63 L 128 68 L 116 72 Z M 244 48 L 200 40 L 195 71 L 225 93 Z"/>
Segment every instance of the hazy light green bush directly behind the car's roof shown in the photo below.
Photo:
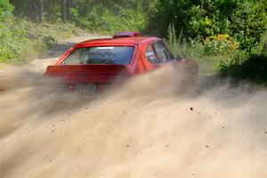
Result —
<path fill-rule="evenodd" d="M 142 31 L 146 27 L 147 18 L 142 8 L 127 9 L 118 5 L 115 8 L 117 12 L 109 10 L 104 4 L 95 4 L 83 15 L 77 8 L 72 8 L 71 13 L 79 27 L 91 31 L 115 33 L 125 30 Z"/>

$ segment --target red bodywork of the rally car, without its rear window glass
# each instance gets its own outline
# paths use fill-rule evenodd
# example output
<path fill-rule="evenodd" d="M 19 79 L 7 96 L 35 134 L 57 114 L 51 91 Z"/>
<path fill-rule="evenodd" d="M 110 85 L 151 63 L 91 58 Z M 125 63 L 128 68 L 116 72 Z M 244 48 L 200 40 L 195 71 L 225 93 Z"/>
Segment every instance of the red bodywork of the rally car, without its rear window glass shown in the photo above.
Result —
<path fill-rule="evenodd" d="M 166 54 L 167 59 L 158 59 L 156 62 L 156 59 L 159 58 L 157 56 L 159 52 L 156 53 L 156 47 L 153 47 L 154 45 L 159 46 L 160 53 L 162 55 Z M 116 47 L 133 49 L 129 62 L 119 64 L 64 64 L 64 61 L 72 53 L 77 52 L 77 50 L 89 48 L 111 49 Z M 155 61 L 152 62 L 151 59 Z M 68 85 L 70 89 L 77 89 L 77 85 L 93 84 L 96 86 L 96 90 L 101 90 L 103 85 L 112 83 L 118 76 L 132 77 L 144 72 L 153 71 L 160 66 L 170 65 L 170 63 L 190 63 L 192 64 L 190 66 L 193 66 L 193 68 L 190 68 L 191 72 L 198 73 L 198 68 L 196 68 L 197 64 L 194 61 L 176 60 L 160 38 L 139 36 L 137 32 L 121 32 L 112 38 L 88 40 L 74 45 L 52 66 L 48 66 L 45 74 L 50 77 L 61 77 L 63 83 Z"/>

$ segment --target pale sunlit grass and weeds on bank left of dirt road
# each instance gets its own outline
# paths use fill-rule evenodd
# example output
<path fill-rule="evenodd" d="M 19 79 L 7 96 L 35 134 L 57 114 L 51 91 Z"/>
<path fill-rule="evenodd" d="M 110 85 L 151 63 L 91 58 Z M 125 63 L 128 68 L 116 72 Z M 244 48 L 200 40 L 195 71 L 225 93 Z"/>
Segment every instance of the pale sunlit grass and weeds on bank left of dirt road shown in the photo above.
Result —
<path fill-rule="evenodd" d="M 13 20 L 12 24 L 9 23 L 6 22 L 5 26 L 10 26 L 10 28 L 4 28 L 6 31 L 4 35 L 8 36 L 9 40 L 3 39 L 3 42 L 9 45 L 1 47 L 0 62 L 16 65 L 36 59 L 41 53 L 57 44 L 57 41 L 61 38 L 75 36 L 83 32 L 83 30 L 70 23 L 37 24 L 21 19 Z M 20 38 L 13 35 L 15 34 L 14 29 L 21 32 Z M 16 50 L 13 50 L 14 47 L 12 46 L 16 46 Z"/>

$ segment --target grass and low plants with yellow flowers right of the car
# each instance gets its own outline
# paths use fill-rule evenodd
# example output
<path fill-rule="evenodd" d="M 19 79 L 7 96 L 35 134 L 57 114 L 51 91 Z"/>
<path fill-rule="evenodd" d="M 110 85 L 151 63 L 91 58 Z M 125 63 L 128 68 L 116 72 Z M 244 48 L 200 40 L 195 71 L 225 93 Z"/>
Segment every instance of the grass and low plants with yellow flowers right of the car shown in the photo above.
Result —
<path fill-rule="evenodd" d="M 175 55 L 198 61 L 199 73 L 230 77 L 236 82 L 249 81 L 267 85 L 267 32 L 261 43 L 251 51 L 241 51 L 227 44 L 235 44 L 231 38 L 213 41 L 177 40 L 174 26 L 168 29 L 167 44 Z M 220 35 L 222 36 L 222 35 Z M 217 43 L 218 42 L 218 43 Z"/>

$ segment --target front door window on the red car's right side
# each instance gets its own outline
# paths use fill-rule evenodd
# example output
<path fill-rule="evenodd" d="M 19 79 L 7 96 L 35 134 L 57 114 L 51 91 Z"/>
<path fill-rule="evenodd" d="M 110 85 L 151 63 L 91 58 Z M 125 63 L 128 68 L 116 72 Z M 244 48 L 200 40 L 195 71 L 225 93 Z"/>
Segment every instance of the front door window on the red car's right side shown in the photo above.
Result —
<path fill-rule="evenodd" d="M 168 49 L 166 48 L 166 45 L 163 44 L 162 42 L 157 42 L 153 44 L 153 46 L 154 46 L 156 55 L 158 57 L 159 63 L 171 61 L 174 59 L 173 54 L 168 51 Z"/>

